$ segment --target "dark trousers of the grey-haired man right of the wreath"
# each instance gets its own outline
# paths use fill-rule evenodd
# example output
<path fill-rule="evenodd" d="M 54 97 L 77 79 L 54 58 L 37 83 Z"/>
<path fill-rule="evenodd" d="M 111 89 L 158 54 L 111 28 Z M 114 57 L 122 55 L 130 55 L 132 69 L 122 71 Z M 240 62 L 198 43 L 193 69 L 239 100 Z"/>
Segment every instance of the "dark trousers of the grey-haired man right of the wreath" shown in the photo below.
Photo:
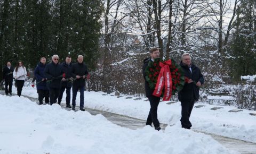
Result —
<path fill-rule="evenodd" d="M 190 129 L 192 124 L 189 121 L 189 117 L 191 115 L 192 109 L 195 104 L 195 99 L 190 100 L 181 100 L 181 126 L 185 129 Z"/>

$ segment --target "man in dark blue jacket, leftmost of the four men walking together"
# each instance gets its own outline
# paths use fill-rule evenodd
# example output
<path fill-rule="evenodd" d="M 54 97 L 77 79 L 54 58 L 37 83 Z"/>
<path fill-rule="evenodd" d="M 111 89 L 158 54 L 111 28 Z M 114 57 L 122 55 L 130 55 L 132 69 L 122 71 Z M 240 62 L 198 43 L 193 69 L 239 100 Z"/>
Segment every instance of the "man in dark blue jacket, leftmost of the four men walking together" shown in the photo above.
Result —
<path fill-rule="evenodd" d="M 34 71 L 39 105 L 43 104 L 43 99 L 46 104 L 49 104 L 49 90 L 46 87 L 46 77 L 44 75 L 45 67 L 46 67 L 46 58 L 42 57 Z"/>

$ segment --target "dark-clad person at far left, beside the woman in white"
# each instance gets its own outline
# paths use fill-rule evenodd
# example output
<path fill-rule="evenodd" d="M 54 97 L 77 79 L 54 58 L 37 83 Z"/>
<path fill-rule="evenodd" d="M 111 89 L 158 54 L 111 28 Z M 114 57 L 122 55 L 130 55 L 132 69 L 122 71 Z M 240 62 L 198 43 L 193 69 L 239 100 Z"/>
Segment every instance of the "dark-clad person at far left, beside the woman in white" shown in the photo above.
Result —
<path fill-rule="evenodd" d="M 13 82 L 13 67 L 11 66 L 11 62 L 7 62 L 7 65 L 3 70 L 3 80 L 5 83 L 5 94 L 12 95 L 12 82 Z M 9 85 L 9 88 L 8 88 Z"/>

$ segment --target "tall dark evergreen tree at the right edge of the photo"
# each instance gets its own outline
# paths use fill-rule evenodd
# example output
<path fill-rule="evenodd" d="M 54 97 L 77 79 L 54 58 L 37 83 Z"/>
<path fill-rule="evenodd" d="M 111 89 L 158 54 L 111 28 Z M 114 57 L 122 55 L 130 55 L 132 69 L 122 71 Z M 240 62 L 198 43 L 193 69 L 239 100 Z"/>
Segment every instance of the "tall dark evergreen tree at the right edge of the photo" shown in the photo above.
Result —
<path fill-rule="evenodd" d="M 241 75 L 256 73 L 256 2 L 243 0 L 235 22 L 235 33 L 231 42 L 231 72 L 235 80 Z"/>

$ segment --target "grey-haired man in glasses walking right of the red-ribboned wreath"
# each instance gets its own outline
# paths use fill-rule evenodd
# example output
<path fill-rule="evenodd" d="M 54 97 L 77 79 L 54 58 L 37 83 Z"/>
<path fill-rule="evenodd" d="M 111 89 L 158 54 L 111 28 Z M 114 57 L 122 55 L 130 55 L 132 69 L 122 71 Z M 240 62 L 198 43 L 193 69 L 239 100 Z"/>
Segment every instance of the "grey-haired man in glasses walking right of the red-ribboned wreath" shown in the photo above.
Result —
<path fill-rule="evenodd" d="M 199 87 L 204 84 L 204 76 L 200 69 L 191 63 L 189 53 L 184 53 L 181 56 L 180 66 L 184 71 L 186 82 L 183 89 L 178 93 L 178 98 L 181 102 L 181 126 L 185 129 L 190 129 L 192 126 L 189 121 L 195 101 L 199 98 Z"/>

